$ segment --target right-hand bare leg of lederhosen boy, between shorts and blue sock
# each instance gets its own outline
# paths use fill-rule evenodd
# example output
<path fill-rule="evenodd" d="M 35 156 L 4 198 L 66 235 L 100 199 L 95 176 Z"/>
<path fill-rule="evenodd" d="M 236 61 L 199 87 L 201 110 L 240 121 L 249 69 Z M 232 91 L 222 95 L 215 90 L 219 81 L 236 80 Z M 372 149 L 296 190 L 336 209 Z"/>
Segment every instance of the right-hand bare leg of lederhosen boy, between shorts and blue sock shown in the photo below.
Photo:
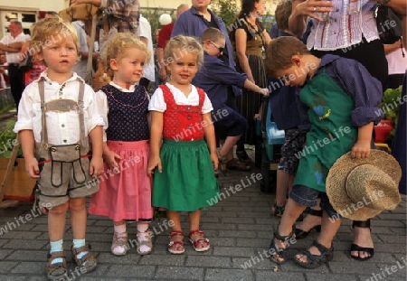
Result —
<path fill-rule="evenodd" d="M 86 198 L 71 198 L 70 212 L 73 239 L 85 239 L 87 220 Z"/>

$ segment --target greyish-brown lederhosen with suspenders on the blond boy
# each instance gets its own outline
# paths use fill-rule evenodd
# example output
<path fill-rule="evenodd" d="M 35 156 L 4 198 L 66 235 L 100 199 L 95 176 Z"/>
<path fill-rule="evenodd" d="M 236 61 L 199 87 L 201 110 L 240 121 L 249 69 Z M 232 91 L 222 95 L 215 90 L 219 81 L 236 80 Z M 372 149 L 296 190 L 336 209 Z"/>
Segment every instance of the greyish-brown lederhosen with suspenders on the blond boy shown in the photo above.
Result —
<path fill-rule="evenodd" d="M 84 197 L 99 190 L 99 183 L 89 174 L 89 139 L 85 133 L 83 114 L 84 83 L 79 80 L 78 101 L 72 99 L 55 99 L 45 102 L 44 80 L 38 86 L 41 98 L 42 132 L 40 143 L 35 144 L 35 156 L 40 166 L 40 202 L 58 206 L 69 198 Z M 48 139 L 46 112 L 77 111 L 79 115 L 80 141 L 68 145 L 52 145 Z M 95 191 L 96 189 L 96 191 Z"/>

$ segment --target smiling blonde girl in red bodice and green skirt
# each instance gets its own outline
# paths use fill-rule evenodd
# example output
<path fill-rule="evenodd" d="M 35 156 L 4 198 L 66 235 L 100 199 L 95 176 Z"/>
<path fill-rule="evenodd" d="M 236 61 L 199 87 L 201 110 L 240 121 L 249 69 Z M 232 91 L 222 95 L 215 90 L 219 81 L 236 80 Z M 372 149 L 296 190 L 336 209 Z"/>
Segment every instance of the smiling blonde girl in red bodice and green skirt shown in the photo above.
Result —
<path fill-rule="evenodd" d="M 152 124 L 147 173 L 156 172 L 153 206 L 167 210 L 172 227 L 168 251 L 172 254 L 185 252 L 181 211 L 188 212 L 188 238 L 194 249 L 203 252 L 210 248 L 199 229 L 201 209 L 213 205 L 219 191 L 213 173 L 218 167 L 213 107 L 204 90 L 191 84 L 203 57 L 203 48 L 194 38 L 172 38 L 164 61 L 169 81 L 156 89 L 148 107 Z"/>

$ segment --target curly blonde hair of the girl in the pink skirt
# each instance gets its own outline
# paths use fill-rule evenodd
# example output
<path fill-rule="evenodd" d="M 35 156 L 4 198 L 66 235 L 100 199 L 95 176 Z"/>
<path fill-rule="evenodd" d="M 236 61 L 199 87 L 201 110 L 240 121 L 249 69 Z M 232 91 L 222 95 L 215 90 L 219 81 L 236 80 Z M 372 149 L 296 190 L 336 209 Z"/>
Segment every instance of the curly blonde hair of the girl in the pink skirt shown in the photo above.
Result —
<path fill-rule="evenodd" d="M 116 33 L 108 42 L 104 63 L 106 71 L 108 72 L 108 79 L 113 79 L 113 70 L 110 68 L 110 60 L 115 59 L 119 61 L 122 59 L 129 48 L 136 48 L 137 50 L 146 53 L 146 61 L 151 60 L 151 52 L 148 51 L 144 42 L 138 40 L 132 33 Z"/>

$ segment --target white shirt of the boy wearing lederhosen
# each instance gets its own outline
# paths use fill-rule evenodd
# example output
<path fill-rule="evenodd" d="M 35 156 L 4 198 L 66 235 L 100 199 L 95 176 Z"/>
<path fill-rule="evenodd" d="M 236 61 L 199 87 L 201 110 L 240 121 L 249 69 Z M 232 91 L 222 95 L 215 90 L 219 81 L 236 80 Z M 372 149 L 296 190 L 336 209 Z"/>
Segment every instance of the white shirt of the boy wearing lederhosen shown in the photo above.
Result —
<path fill-rule="evenodd" d="M 41 141 L 42 114 L 41 98 L 38 87 L 38 81 L 45 79 L 44 99 L 45 102 L 63 98 L 78 100 L 80 81 L 83 81 L 75 72 L 69 80 L 63 84 L 62 95 L 59 95 L 59 89 L 62 85 L 48 79 L 47 71 L 43 71 L 39 79 L 34 80 L 23 92 L 23 97 L 18 108 L 18 120 L 14 126 L 14 132 L 21 130 L 32 130 L 35 142 Z M 83 110 L 85 120 L 85 132 L 89 135 L 95 126 L 104 126 L 103 118 L 99 113 L 96 95 L 89 85 L 85 84 L 83 95 Z M 71 145 L 80 141 L 80 123 L 79 115 L 75 111 L 68 112 L 46 112 L 46 122 L 48 127 L 48 139 L 52 145 Z"/>

